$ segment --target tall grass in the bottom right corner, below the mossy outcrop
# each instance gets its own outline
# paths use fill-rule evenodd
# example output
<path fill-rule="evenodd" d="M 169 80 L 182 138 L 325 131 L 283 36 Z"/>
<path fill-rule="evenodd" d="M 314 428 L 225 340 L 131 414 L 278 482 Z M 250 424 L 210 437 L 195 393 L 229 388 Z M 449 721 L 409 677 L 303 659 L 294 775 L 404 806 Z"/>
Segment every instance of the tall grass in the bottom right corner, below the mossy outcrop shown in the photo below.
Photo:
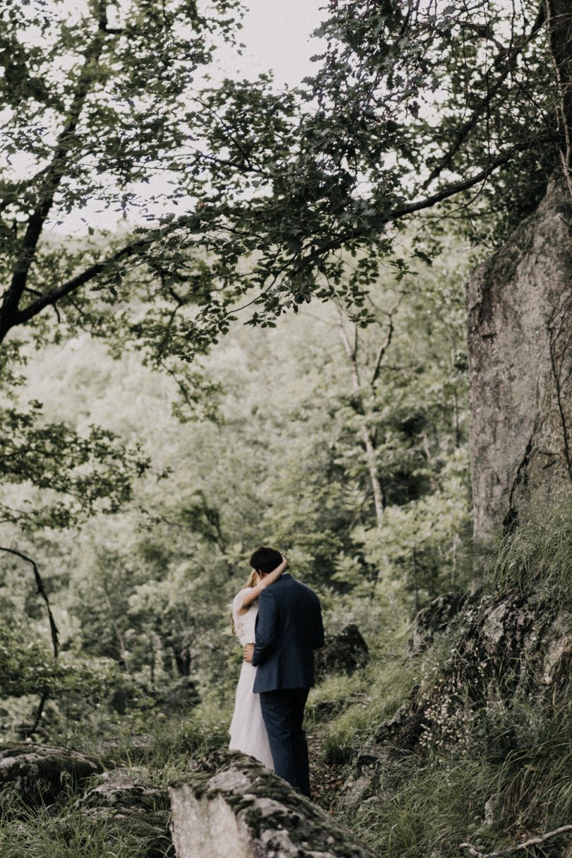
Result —
<path fill-rule="evenodd" d="M 473 755 L 412 753 L 388 762 L 377 794 L 341 810 L 340 820 L 384 858 L 459 858 L 467 841 L 496 851 L 569 823 L 570 771 L 568 704 L 502 760 L 475 746 Z M 536 854 L 561 855 L 563 843 L 546 849 Z"/>

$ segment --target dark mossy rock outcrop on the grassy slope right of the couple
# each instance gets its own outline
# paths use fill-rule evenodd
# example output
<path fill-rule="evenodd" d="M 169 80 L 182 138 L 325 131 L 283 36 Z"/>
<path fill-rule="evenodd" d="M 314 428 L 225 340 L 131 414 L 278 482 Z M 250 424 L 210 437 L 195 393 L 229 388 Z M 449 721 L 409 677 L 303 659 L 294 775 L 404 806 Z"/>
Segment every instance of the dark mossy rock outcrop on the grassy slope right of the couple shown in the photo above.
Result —
<path fill-rule="evenodd" d="M 569 694 L 572 612 L 540 595 L 513 592 L 467 604 L 437 646 L 431 678 L 354 760 L 341 793 L 346 807 L 382 798 L 412 752 L 423 756 L 438 746 L 470 754 L 479 741 L 488 753 L 506 752 L 519 738 L 503 724 L 551 712 Z"/>

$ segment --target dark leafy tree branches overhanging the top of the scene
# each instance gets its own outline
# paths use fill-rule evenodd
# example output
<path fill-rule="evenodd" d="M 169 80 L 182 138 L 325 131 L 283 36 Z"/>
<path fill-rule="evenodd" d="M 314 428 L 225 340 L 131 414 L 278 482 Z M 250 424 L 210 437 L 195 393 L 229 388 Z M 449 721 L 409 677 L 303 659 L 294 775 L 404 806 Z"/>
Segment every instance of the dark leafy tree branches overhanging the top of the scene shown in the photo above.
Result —
<path fill-rule="evenodd" d="M 13 380 L 18 330 L 40 344 L 87 329 L 171 373 L 192 407 L 190 361 L 242 311 L 272 325 L 335 298 L 365 324 L 382 266 L 402 275 L 412 257 L 434 257 L 443 216 L 501 244 L 555 167 L 569 171 L 564 7 L 332 0 L 316 75 L 285 93 L 268 76 L 192 80 L 214 41 L 233 38 L 233 2 L 90 3 L 72 20 L 57 4 L 5 9 L 4 145 L 32 164 L 26 178 L 10 163 L 2 177 L 0 341 Z M 124 215 L 123 233 L 90 222 L 96 203 Z M 87 237 L 51 238 L 74 211 Z M 33 408 L 4 414 L 5 434 L 21 432 L 16 451 L 32 449 Z M 94 432 L 78 441 L 51 427 L 57 450 L 87 450 L 68 473 L 92 452 L 113 459 L 114 439 Z M 21 456 L 9 479 L 41 485 L 47 458 L 36 474 Z M 143 467 L 125 451 L 119 460 L 126 477 Z M 83 497 L 85 482 L 57 487 Z"/>

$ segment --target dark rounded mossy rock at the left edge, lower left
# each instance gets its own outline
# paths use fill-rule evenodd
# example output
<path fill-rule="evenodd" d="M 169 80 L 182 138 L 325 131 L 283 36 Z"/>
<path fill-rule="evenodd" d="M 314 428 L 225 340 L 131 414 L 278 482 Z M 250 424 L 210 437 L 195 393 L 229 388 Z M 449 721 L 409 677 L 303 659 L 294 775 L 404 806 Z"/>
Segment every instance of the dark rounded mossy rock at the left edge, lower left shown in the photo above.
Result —
<path fill-rule="evenodd" d="M 81 753 L 47 745 L 0 745 L 0 789 L 26 804 L 51 804 L 100 771 Z"/>

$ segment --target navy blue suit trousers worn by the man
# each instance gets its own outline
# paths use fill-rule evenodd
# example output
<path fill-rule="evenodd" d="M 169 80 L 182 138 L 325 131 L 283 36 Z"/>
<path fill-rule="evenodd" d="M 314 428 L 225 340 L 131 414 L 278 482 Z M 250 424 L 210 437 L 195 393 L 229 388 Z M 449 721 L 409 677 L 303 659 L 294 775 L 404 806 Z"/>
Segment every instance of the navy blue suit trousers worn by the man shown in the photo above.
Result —
<path fill-rule="evenodd" d="M 268 732 L 274 771 L 310 798 L 308 746 L 302 729 L 310 688 L 260 692 L 262 718 Z"/>

